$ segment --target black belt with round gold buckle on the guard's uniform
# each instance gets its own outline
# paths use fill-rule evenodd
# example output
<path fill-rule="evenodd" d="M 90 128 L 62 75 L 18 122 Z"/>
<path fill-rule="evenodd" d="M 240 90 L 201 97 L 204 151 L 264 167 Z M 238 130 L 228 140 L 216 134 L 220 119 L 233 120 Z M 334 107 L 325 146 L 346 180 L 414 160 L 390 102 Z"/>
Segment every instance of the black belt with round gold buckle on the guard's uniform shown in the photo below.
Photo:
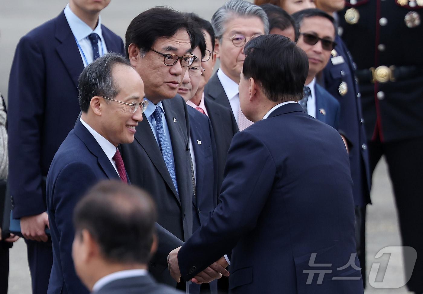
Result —
<path fill-rule="evenodd" d="M 421 74 L 423 74 L 423 69 L 420 67 L 396 67 L 393 65 L 390 67 L 381 65 L 376 68 L 360 69 L 356 72 L 358 80 L 364 83 L 398 82 Z"/>

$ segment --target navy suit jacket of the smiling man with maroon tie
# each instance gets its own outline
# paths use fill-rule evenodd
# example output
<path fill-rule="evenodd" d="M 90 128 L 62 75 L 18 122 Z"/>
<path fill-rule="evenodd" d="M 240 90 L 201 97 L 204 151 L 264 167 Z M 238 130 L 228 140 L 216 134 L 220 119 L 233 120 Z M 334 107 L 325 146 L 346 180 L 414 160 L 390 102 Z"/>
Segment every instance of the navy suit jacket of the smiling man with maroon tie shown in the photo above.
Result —
<path fill-rule="evenodd" d="M 117 179 L 109 158 L 80 121 L 60 145 L 47 175 L 47 213 L 53 245 L 49 294 L 88 293 L 72 261 L 72 212 L 78 200 L 95 183 Z"/>

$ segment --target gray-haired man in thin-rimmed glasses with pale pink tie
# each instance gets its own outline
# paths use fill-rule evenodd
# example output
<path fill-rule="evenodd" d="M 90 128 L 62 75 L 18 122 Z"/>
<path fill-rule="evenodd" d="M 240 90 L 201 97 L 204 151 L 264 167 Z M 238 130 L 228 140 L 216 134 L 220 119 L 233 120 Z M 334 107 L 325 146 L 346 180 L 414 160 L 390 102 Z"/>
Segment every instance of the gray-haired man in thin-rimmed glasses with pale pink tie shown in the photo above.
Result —
<path fill-rule="evenodd" d="M 204 96 L 230 109 L 239 130 L 244 130 L 252 124 L 239 107 L 244 45 L 256 36 L 269 33 L 269 22 L 260 7 L 244 0 L 229 0 L 214 13 L 211 25 L 220 68 L 204 88 Z"/>

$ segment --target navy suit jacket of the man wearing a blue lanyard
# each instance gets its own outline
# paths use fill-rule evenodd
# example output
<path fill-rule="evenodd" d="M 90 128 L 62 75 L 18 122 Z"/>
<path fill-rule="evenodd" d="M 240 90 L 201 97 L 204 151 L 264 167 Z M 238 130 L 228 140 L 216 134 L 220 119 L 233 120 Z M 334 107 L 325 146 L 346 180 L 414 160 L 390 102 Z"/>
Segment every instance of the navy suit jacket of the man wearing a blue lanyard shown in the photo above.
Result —
<path fill-rule="evenodd" d="M 122 39 L 102 25 L 109 52 Z M 46 211 L 43 177 L 80 112 L 77 80 L 84 64 L 63 11 L 19 41 L 8 96 L 9 185 L 14 216 Z"/>

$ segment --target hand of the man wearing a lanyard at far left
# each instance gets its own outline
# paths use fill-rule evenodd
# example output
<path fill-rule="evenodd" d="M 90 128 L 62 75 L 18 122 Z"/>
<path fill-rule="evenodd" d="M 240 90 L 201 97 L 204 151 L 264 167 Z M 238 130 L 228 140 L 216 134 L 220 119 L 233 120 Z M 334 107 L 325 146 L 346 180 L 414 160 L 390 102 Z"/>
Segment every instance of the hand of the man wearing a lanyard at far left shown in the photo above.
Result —
<path fill-rule="evenodd" d="M 47 212 L 21 218 L 21 232 L 25 239 L 47 242 L 46 226 L 50 226 Z"/>

